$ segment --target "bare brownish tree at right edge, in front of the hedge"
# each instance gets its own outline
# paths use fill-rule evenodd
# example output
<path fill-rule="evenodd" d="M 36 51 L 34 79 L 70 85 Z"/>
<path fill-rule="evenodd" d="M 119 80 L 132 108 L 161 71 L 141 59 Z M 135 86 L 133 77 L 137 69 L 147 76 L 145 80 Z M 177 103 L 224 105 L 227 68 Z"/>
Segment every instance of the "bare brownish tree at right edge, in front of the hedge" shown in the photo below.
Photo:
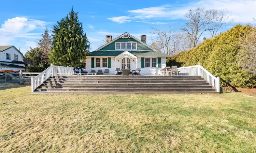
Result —
<path fill-rule="evenodd" d="M 256 75 L 256 27 L 240 44 L 243 51 L 240 55 L 240 66 L 247 72 Z M 245 52 L 245 53 L 244 53 Z"/>

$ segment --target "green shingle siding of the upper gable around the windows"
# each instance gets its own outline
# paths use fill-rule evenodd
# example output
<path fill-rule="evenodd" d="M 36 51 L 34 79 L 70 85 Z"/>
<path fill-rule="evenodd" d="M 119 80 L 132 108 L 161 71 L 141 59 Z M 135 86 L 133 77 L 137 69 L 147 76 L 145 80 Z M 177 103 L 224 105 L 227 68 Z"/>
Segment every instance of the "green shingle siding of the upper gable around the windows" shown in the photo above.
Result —
<path fill-rule="evenodd" d="M 136 41 L 133 38 L 119 38 L 119 39 L 113 41 L 108 46 L 105 46 L 104 48 L 102 48 L 100 50 L 115 50 L 115 43 L 126 43 L 126 42 L 137 43 L 137 50 L 152 50 L 152 49 L 146 47 L 145 45 L 139 43 L 138 41 Z"/>

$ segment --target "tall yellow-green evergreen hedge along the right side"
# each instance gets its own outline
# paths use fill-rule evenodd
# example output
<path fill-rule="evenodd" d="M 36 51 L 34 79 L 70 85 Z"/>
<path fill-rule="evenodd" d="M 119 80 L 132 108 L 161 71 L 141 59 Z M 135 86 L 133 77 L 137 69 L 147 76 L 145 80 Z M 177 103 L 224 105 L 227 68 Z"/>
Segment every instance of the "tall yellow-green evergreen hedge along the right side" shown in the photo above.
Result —
<path fill-rule="evenodd" d="M 255 29 L 250 25 L 239 24 L 214 38 L 204 40 L 193 49 L 168 58 L 167 66 L 193 66 L 200 63 L 210 73 L 221 78 L 221 86 L 254 88 L 256 76 L 239 66 L 239 54 L 242 54 L 239 44 L 252 30 Z"/>

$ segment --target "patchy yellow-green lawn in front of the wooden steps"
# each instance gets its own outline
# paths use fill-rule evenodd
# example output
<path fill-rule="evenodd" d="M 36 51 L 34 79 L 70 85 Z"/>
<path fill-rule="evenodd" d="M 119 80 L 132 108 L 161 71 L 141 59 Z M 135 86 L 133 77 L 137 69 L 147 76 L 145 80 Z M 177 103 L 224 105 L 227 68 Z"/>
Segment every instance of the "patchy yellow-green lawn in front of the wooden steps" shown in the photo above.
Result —
<path fill-rule="evenodd" d="M 256 96 L 0 88 L 0 152 L 256 152 Z"/>

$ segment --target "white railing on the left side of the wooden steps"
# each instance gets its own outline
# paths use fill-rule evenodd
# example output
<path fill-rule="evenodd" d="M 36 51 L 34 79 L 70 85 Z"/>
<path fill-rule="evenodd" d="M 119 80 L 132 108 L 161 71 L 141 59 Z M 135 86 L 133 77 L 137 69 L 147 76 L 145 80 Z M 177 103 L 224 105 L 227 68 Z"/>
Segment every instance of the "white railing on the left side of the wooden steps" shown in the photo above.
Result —
<path fill-rule="evenodd" d="M 38 74 L 36 77 L 31 78 L 31 90 L 32 92 L 34 92 L 34 90 L 49 77 L 65 75 L 73 75 L 73 67 L 51 65 L 42 73 Z"/>

